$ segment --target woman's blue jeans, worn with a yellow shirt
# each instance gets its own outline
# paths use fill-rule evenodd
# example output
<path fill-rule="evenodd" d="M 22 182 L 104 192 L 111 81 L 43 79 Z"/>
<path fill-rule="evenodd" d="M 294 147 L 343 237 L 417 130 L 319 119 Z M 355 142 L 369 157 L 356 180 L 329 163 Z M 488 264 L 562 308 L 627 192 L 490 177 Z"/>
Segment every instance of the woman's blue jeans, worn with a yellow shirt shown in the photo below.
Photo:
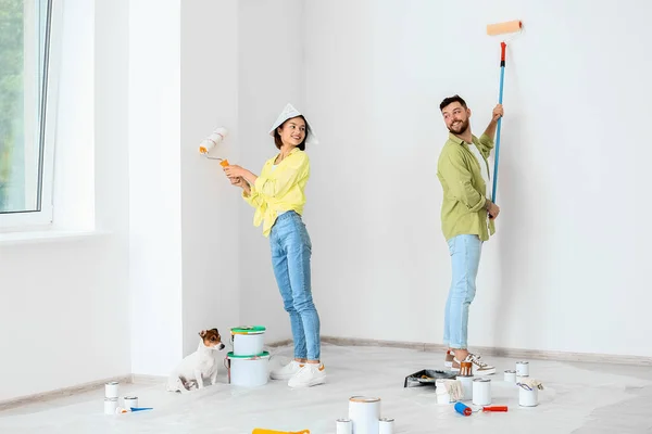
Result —
<path fill-rule="evenodd" d="M 272 265 L 285 310 L 290 315 L 294 358 L 319 360 L 319 316 L 312 299 L 312 243 L 301 216 L 278 216 L 269 233 Z"/>

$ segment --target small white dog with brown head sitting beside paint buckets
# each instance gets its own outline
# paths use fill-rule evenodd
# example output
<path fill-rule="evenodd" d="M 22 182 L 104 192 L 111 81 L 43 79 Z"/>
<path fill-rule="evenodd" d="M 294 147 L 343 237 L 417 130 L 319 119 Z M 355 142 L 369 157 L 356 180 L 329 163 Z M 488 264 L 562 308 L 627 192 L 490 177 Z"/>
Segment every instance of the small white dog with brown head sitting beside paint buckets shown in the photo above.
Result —
<path fill-rule="evenodd" d="M 217 381 L 220 362 L 215 357 L 217 350 L 224 349 L 222 336 L 217 329 L 199 332 L 201 340 L 197 352 L 186 356 L 167 379 L 168 392 L 190 392 L 203 388 L 204 379 L 211 379 L 211 385 Z"/>

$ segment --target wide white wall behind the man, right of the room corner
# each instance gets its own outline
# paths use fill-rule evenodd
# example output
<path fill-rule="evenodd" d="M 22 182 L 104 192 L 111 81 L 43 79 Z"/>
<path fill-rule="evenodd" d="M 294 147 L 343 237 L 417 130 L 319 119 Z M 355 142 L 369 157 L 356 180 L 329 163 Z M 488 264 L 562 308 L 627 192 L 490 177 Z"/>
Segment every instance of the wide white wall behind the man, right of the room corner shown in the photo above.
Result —
<path fill-rule="evenodd" d="M 481 133 L 500 73 L 501 39 L 486 25 L 521 18 L 505 74 L 502 212 L 471 345 L 652 355 L 640 322 L 652 302 L 640 175 L 652 159 L 651 12 L 635 0 L 306 2 L 305 101 L 323 141 L 306 209 L 323 333 L 441 343 L 438 105 L 460 93 Z"/>

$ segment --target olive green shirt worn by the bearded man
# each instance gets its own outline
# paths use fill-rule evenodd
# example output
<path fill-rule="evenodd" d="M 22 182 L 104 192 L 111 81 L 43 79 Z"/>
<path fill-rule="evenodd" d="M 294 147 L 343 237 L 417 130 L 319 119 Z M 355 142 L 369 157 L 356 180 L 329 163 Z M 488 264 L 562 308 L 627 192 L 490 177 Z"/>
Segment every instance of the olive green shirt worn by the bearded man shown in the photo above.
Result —
<path fill-rule="evenodd" d="M 474 145 L 484 157 L 479 164 L 468 149 Z M 449 133 L 437 163 L 437 177 L 443 189 L 441 229 L 447 240 L 475 234 L 487 241 L 496 232 L 493 220 L 487 218 L 487 186 L 480 170 L 480 164 L 486 164 L 489 173 L 487 157 L 492 149 L 493 140 L 487 135 L 479 139 L 473 136 L 473 143 L 466 143 Z"/>

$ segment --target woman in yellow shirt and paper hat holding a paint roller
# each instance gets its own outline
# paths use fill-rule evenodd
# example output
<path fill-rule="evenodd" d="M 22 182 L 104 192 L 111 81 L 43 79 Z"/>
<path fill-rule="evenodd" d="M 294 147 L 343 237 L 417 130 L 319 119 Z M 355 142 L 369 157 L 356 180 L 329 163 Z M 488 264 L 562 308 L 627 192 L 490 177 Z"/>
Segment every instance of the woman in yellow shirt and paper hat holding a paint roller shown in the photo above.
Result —
<path fill-rule="evenodd" d="M 242 197 L 255 208 L 254 225 L 263 224 L 269 238 L 274 276 L 290 316 L 294 359 L 271 372 L 272 379 L 289 380 L 290 387 L 309 387 L 326 381 L 319 361 L 319 316 L 313 304 L 310 258 L 312 243 L 301 219 L 304 189 L 310 178 L 305 144 L 316 143 L 305 118 L 288 104 L 269 131 L 280 151 L 263 166 L 261 176 L 236 165 L 224 168 Z"/>

